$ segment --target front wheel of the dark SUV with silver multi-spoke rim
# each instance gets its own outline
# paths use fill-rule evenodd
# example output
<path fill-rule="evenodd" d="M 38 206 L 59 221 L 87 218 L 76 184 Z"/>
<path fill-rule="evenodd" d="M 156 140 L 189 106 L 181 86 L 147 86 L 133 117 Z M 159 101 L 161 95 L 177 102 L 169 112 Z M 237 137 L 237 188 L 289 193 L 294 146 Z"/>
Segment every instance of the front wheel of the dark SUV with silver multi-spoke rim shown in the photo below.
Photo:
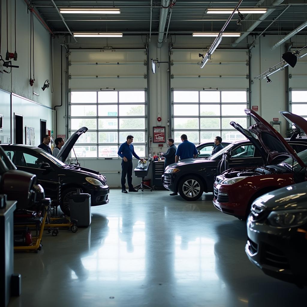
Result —
<path fill-rule="evenodd" d="M 204 184 L 197 176 L 187 176 L 179 182 L 178 192 L 185 200 L 197 200 L 203 195 Z"/>

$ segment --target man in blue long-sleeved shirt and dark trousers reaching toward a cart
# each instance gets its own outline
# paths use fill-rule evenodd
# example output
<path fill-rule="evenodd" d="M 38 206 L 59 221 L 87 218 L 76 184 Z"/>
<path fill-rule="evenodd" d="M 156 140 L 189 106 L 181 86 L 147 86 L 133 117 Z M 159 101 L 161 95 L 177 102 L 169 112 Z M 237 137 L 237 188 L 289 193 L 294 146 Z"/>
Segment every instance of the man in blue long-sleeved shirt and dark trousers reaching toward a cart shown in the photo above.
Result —
<path fill-rule="evenodd" d="M 132 185 L 132 155 L 136 157 L 138 160 L 144 160 L 140 158 L 134 151 L 134 147 L 131 144 L 133 142 L 133 136 L 128 135 L 127 141 L 125 143 L 122 143 L 122 145 L 119 147 L 118 155 L 122 158 L 122 193 L 127 193 L 126 190 L 126 176 L 128 181 L 128 191 L 129 192 L 138 192 L 138 190 L 134 189 Z"/>

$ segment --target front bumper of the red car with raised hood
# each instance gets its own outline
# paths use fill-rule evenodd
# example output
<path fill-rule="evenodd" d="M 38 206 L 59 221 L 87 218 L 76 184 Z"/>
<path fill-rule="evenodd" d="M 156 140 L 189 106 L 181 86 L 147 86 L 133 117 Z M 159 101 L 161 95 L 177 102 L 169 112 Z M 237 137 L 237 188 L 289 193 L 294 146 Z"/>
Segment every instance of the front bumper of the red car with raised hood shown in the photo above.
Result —
<path fill-rule="evenodd" d="M 216 209 L 223 213 L 244 218 L 246 214 L 247 201 L 244 197 L 240 196 L 244 194 L 244 190 L 240 191 L 239 195 L 237 194 L 235 197 L 236 201 L 231 201 L 232 192 L 230 186 L 223 186 L 221 184 L 216 184 L 215 182 L 213 187 L 213 204 Z"/>

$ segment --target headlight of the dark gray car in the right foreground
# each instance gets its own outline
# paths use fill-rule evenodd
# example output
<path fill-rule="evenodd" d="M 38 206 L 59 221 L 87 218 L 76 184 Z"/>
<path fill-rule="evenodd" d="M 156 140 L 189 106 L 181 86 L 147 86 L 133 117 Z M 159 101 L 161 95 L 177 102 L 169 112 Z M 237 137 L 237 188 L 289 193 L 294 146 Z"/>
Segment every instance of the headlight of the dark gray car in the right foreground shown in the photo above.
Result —
<path fill-rule="evenodd" d="M 268 221 L 272 226 L 281 228 L 300 226 L 307 222 L 307 210 L 272 211 Z"/>

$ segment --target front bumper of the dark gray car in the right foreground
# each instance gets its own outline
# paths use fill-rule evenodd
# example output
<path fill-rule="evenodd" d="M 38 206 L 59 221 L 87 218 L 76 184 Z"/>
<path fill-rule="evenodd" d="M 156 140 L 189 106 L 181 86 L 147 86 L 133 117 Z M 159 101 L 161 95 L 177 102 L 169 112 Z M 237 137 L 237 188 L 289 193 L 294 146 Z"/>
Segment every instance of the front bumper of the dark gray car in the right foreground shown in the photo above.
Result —
<path fill-rule="evenodd" d="M 300 286 L 306 285 L 305 229 L 272 227 L 266 222 L 253 222 L 249 217 L 245 246 L 247 257 L 269 276 Z"/>

